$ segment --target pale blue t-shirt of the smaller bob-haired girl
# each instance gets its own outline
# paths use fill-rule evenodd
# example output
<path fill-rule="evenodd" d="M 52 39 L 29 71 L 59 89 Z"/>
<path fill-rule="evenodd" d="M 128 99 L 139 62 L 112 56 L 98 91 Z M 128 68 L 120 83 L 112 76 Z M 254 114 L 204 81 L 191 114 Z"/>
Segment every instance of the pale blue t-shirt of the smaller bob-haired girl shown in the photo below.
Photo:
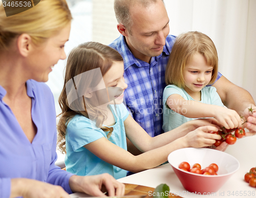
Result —
<path fill-rule="evenodd" d="M 172 94 L 179 94 L 185 100 L 195 101 L 184 89 L 177 87 L 176 85 L 168 85 L 165 87 L 163 91 L 163 130 L 164 132 L 173 130 L 183 123 L 197 119 L 197 118 L 188 118 L 183 115 L 180 115 L 170 109 L 166 104 L 167 98 Z M 204 87 L 201 90 L 201 103 L 209 104 L 209 105 L 218 105 L 224 107 L 219 94 L 216 91 L 215 87 L 209 86 Z M 184 110 L 185 111 L 185 110 Z"/>

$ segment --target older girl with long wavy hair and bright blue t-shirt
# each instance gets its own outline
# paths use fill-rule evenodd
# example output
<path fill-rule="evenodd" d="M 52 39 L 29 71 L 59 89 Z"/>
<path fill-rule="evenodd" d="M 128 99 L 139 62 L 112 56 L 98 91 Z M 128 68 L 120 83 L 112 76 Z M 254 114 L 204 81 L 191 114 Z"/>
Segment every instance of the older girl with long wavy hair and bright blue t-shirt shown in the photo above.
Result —
<path fill-rule="evenodd" d="M 174 150 L 209 146 L 220 139 L 207 133 L 218 127 L 201 119 L 150 137 L 122 103 L 127 87 L 123 72 L 121 55 L 109 46 L 88 42 L 70 53 L 58 123 L 59 149 L 67 152 L 67 171 L 77 175 L 108 172 L 118 179 L 127 170 L 139 172 L 162 164 Z M 126 137 L 141 155 L 127 152 Z"/>

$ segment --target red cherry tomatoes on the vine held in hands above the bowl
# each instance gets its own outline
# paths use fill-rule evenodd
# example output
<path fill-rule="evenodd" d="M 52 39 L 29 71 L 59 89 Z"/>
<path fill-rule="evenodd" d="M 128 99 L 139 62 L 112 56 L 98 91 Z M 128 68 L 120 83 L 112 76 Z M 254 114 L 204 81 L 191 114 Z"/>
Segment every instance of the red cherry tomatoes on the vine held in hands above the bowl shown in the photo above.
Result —
<path fill-rule="evenodd" d="M 212 131 L 213 134 L 218 134 L 222 138 L 220 140 L 216 140 L 214 145 L 217 147 L 222 142 L 226 141 L 228 144 L 234 144 L 237 141 L 237 138 L 242 138 L 245 135 L 245 131 L 242 128 L 236 128 L 236 129 L 225 129 L 222 128 L 218 132 Z"/>

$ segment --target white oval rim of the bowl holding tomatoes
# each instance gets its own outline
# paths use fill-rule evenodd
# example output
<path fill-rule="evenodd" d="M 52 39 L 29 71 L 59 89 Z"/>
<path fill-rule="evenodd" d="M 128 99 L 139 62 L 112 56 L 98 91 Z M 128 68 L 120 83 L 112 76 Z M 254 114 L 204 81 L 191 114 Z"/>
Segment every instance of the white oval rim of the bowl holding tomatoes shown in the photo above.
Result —
<path fill-rule="evenodd" d="M 187 149 L 206 150 L 206 149 L 209 149 L 209 148 L 186 147 L 186 148 L 182 148 L 182 149 L 175 150 L 175 151 L 173 151 L 172 153 L 174 153 L 174 152 L 176 152 L 176 151 L 179 151 L 179 150 L 187 150 Z M 214 150 L 214 149 L 212 149 L 212 150 L 213 150 L 213 151 L 217 151 L 217 152 L 222 152 L 222 151 L 219 151 L 219 150 Z M 172 154 L 172 153 L 170 153 L 170 154 Z M 225 152 L 223 152 L 223 153 L 225 153 Z M 169 161 L 169 156 L 170 156 L 170 154 L 169 154 L 168 157 L 167 157 L 168 163 L 169 163 L 173 168 L 176 168 L 176 167 L 175 167 L 174 165 L 172 165 L 172 164 L 170 163 L 170 161 Z M 177 170 L 180 170 L 180 171 L 183 171 L 183 172 L 185 172 L 185 173 L 187 173 L 187 174 L 194 175 L 194 176 L 199 176 L 199 177 L 210 177 L 210 178 L 212 178 L 212 177 L 224 177 L 224 176 L 229 176 L 229 175 L 232 175 L 234 172 L 236 172 L 236 171 L 239 170 L 239 168 L 240 168 L 240 162 L 238 161 L 237 158 L 235 158 L 234 156 L 232 156 L 232 155 L 230 155 L 230 154 L 228 154 L 228 153 L 225 153 L 225 155 L 229 155 L 231 158 L 233 158 L 233 159 L 234 159 L 235 161 L 237 161 L 237 163 L 238 163 L 238 167 L 236 168 L 236 170 L 233 170 L 232 172 L 228 172 L 227 174 L 221 174 L 221 175 L 203 175 L 203 174 L 196 174 L 196 173 L 194 173 L 194 172 L 185 171 L 185 170 L 180 169 L 179 167 L 176 168 L 176 169 L 177 169 Z"/>

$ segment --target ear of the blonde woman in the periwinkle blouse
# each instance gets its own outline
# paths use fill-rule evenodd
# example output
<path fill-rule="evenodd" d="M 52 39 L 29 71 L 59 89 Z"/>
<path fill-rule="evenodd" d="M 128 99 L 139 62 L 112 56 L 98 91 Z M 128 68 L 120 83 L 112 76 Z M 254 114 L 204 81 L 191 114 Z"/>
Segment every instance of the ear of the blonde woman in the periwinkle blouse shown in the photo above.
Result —
<path fill-rule="evenodd" d="M 29 51 L 31 51 L 32 48 L 32 39 L 28 34 L 21 34 L 18 36 L 17 39 L 17 47 L 19 53 L 27 57 L 29 54 Z"/>

